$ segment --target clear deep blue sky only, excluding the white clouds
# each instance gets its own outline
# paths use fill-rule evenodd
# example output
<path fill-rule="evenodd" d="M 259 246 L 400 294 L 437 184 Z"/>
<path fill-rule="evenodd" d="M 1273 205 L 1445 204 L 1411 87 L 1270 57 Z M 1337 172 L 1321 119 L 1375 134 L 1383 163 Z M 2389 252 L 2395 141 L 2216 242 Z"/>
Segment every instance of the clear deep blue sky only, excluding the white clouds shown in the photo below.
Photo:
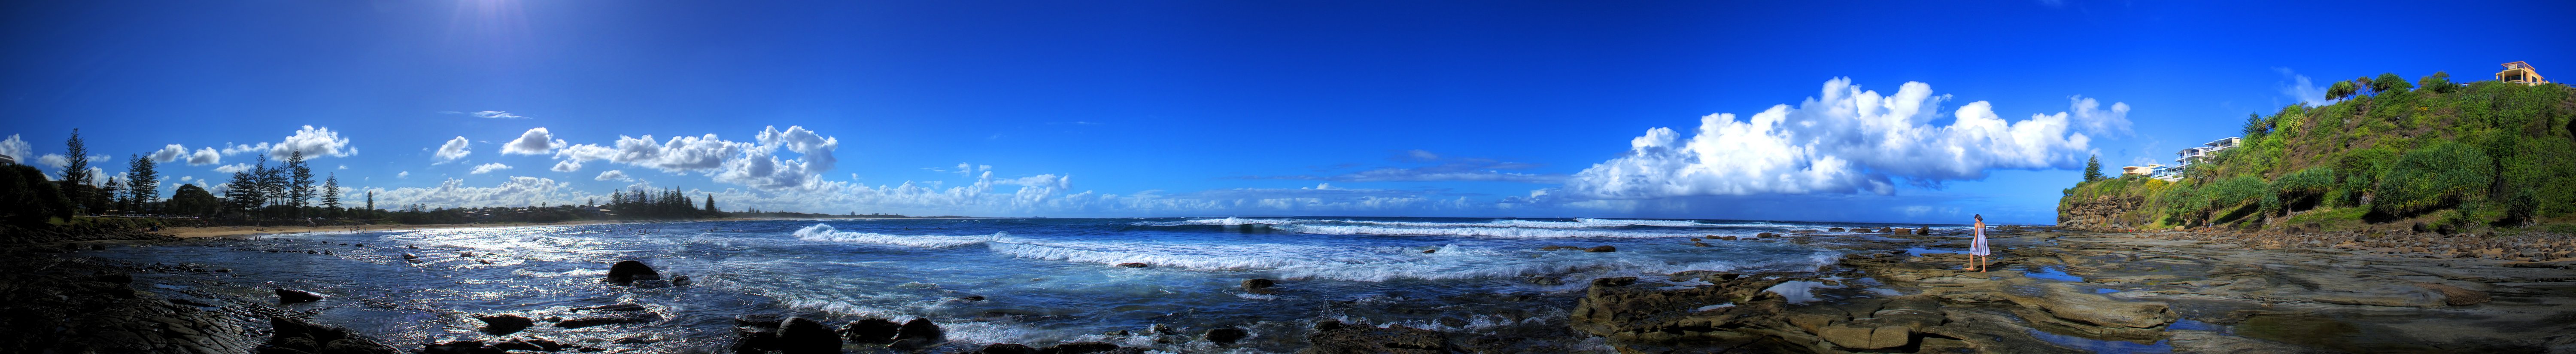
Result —
<path fill-rule="evenodd" d="M 2295 103 L 2293 75 L 2349 80 L 2447 70 L 2486 80 L 2527 59 L 2576 78 L 2576 3 L 5 3 L 0 134 L 62 152 L 276 142 L 337 129 L 361 155 L 325 158 L 345 183 L 404 189 L 505 176 L 629 183 L 546 171 L 507 142 L 549 127 L 572 145 L 618 134 L 762 127 L 837 137 L 827 181 L 943 183 L 925 168 L 1072 176 L 1074 191 L 1200 194 L 1301 189 L 1443 158 L 1577 173 L 1651 127 L 1749 116 L 1832 78 L 1893 93 L 1929 83 L 1947 114 L 1991 101 L 2004 119 L 2069 111 L 2069 96 L 2128 103 L 2133 134 L 2094 137 L 2105 163 L 2172 160 L 2228 137 L 2244 114 Z M 2287 75 L 2285 75 L 2287 72 Z M 510 111 L 474 119 L 440 111 Z M 1947 124 L 1947 121 L 1935 121 Z M 245 163 L 250 155 L 227 155 Z M 466 173 L 479 163 L 507 173 Z M 121 163 L 111 165 L 111 173 Z M 224 178 L 167 163 L 165 176 Z M 407 178 L 397 173 L 410 171 Z M 623 168 L 654 186 L 742 189 L 698 173 Z M 1337 214 L 1716 217 L 2053 222 L 2076 171 L 1996 171 L 1896 196 L 1674 196 L 1646 209 L 1376 209 Z M 1489 204 L 1553 183 L 1332 181 Z M 1010 194 L 1002 189 L 999 194 Z M 1899 212 L 1922 204 L 1935 212 Z M 796 207 L 786 207 L 796 209 Z M 850 212 L 850 209 L 809 209 Z M 855 209 L 876 212 L 876 209 Z M 943 209 L 891 209 L 943 212 Z M 953 209 L 958 214 L 984 209 Z M 1005 209 L 989 214 L 1121 214 Z M 1139 212 L 1175 214 L 1175 212 Z M 1208 209 L 1206 214 L 1262 214 Z M 1288 212 L 1301 214 L 1301 212 Z"/>

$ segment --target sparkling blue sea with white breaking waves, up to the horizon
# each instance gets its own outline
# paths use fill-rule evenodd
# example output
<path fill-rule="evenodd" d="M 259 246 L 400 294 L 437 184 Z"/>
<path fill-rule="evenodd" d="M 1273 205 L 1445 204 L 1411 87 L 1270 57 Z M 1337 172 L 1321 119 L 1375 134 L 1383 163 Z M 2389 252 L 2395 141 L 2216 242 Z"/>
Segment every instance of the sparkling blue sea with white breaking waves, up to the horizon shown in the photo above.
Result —
<path fill-rule="evenodd" d="M 232 284 L 224 292 L 242 297 L 270 297 L 265 287 L 325 292 L 332 300 L 291 310 L 314 310 L 322 323 L 394 344 L 487 338 L 474 331 L 474 313 L 580 318 L 585 313 L 569 307 L 634 302 L 662 318 L 600 328 L 538 326 L 520 336 L 598 346 L 636 336 L 654 341 L 644 349 L 703 349 L 732 341 L 734 315 L 811 315 L 824 323 L 930 318 L 961 349 L 1059 341 L 1188 349 L 1105 333 L 1239 326 L 1252 331 L 1239 351 L 1293 351 L 1296 336 L 1314 320 L 1466 333 L 1538 323 L 1561 328 L 1582 279 L 1592 276 L 1814 271 L 1839 253 L 1785 240 L 1837 233 L 1708 240 L 1708 248 L 1687 238 L 1821 227 L 1880 225 L 1443 217 L 654 222 L 304 233 L 90 253 L 237 269 L 219 276 Z M 1618 251 L 1538 251 L 1543 245 Z M 404 253 L 420 258 L 404 261 Z M 598 282 L 608 264 L 629 258 L 696 284 L 634 289 Z M 1564 284 L 1533 284 L 1530 276 Z M 1280 292 L 1244 292 L 1244 279 L 1280 279 Z"/>

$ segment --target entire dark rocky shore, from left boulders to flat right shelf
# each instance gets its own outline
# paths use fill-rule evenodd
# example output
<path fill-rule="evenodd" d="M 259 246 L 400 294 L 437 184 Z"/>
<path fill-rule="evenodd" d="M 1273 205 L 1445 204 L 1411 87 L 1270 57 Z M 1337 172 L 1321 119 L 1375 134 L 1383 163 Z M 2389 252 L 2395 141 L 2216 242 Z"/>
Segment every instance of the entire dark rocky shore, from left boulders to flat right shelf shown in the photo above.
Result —
<path fill-rule="evenodd" d="M 1705 243 L 1806 243 L 1844 251 L 1819 271 L 1680 271 L 1584 284 L 1582 292 L 1522 292 L 1419 305 L 1337 307 L 1443 310 L 1461 302 L 1520 302 L 1538 318 L 1476 333 L 1394 323 L 1265 320 L 1216 328 L 1139 328 L 1066 344 L 953 344 L 920 318 L 734 318 L 729 338 L 703 351 L 981 351 L 1087 354 L 1296 349 L 1301 354 L 1507 354 L 1507 351 L 2576 351 L 2576 258 L 2543 235 L 2365 235 L 2365 233 L 2076 233 L 1999 227 L 1991 271 L 1965 271 L 1965 238 L 1927 227 L 1868 235 L 1700 238 Z M 167 243 L 149 233 L 54 235 L 0 245 L 0 351 L 170 354 L 502 354 L 652 351 L 665 336 L 549 338 L 528 328 L 616 328 L 672 315 L 657 305 L 592 305 L 523 313 L 459 313 L 484 338 L 386 344 L 312 323 L 278 297 L 155 287 L 134 274 L 224 276 L 234 269 L 124 264 L 67 251 Z M 64 243 L 72 240 L 72 243 Z M 183 240 L 185 243 L 185 240 Z M 1592 251 L 1571 248 L 1566 251 Z M 1605 248 L 1607 251 L 1607 248 Z M 420 251 L 430 253 L 430 251 Z M 690 287 L 644 261 L 608 264 L 600 282 L 636 289 Z M 667 279 L 665 279 L 667 276 Z M 1244 279 L 1244 292 L 1280 292 Z M 263 289 L 265 292 L 265 289 Z M 1556 315 L 1548 315 L 1548 313 Z M 1463 323 L 1440 320 L 1443 328 Z"/>

